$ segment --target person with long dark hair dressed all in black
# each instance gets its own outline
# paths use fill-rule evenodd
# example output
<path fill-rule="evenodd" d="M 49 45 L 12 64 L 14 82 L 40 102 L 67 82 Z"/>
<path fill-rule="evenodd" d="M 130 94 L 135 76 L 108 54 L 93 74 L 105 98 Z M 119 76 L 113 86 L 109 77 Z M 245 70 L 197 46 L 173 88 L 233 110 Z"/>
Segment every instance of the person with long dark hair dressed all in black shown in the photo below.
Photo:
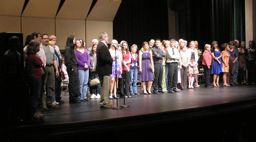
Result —
<path fill-rule="evenodd" d="M 78 100 L 79 95 L 79 81 L 78 81 L 78 73 L 77 73 L 77 60 L 75 58 L 74 53 L 74 45 L 75 45 L 75 36 L 68 36 L 66 47 L 64 50 L 64 59 L 68 72 L 68 93 L 69 93 L 69 102 L 70 103 L 79 103 L 81 101 Z"/>

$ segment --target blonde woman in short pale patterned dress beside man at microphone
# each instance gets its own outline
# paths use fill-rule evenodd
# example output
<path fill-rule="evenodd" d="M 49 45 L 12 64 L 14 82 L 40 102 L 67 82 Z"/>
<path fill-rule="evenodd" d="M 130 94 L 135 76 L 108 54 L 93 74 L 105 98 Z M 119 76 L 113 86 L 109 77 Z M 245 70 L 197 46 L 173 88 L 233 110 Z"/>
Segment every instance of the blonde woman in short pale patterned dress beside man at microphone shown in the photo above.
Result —
<path fill-rule="evenodd" d="M 122 78 L 122 76 L 121 76 L 121 74 L 122 74 L 121 59 L 118 58 L 120 56 L 119 55 L 120 52 L 118 52 L 118 49 L 115 50 L 115 47 L 113 47 L 112 45 L 114 45 L 115 47 L 118 47 L 118 41 L 117 40 L 112 40 L 111 47 L 109 48 L 111 58 L 116 57 L 116 61 L 113 61 L 113 63 L 112 63 L 112 74 L 109 75 L 109 77 L 110 77 L 109 98 L 110 99 L 112 99 L 113 97 L 117 98 L 116 81 L 118 82 L 118 79 L 116 79 L 116 78 Z M 114 92 L 113 92 L 113 90 L 114 90 Z M 113 95 L 112 95 L 112 92 L 113 92 Z"/>

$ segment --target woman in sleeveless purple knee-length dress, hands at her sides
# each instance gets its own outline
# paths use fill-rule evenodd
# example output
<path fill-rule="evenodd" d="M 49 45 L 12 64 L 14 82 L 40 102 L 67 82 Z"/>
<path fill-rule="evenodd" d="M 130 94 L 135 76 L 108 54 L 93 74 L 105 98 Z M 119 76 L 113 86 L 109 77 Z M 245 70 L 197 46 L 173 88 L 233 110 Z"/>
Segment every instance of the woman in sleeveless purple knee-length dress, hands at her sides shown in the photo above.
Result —
<path fill-rule="evenodd" d="M 143 50 L 139 52 L 139 81 L 142 83 L 143 87 L 143 93 L 144 94 L 152 94 L 151 93 L 151 86 L 152 82 L 154 80 L 154 62 L 153 62 L 153 56 L 152 51 L 148 50 L 149 44 L 147 42 L 143 42 Z M 146 81 L 148 81 L 147 84 L 147 90 L 146 90 Z"/>

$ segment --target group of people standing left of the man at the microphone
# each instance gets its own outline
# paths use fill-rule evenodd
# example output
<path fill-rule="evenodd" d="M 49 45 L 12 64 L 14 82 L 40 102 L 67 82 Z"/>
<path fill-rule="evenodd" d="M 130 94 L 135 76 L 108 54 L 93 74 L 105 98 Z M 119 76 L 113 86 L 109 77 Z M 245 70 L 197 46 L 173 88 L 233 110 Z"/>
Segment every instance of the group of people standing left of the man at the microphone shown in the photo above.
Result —
<path fill-rule="evenodd" d="M 61 100 L 61 76 L 62 80 L 69 82 L 69 103 L 88 100 L 88 80 L 96 78 L 97 40 L 93 41 L 91 53 L 88 54 L 82 39 L 68 36 L 63 57 L 56 42 L 54 35 L 46 33 L 29 33 L 26 37 L 23 51 L 32 118 L 42 118 L 43 111 L 64 103 Z M 90 87 L 90 92 L 93 93 L 91 98 L 100 98 L 100 84 Z"/>

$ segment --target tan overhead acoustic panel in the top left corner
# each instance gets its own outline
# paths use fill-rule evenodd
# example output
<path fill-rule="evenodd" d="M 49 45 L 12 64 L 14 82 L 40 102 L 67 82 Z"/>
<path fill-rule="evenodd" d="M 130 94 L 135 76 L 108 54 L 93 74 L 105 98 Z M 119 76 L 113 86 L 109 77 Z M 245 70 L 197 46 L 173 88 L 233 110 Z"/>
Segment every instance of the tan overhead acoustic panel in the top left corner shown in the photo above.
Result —
<path fill-rule="evenodd" d="M 25 0 L 0 0 L 0 15 L 20 16 Z"/>

